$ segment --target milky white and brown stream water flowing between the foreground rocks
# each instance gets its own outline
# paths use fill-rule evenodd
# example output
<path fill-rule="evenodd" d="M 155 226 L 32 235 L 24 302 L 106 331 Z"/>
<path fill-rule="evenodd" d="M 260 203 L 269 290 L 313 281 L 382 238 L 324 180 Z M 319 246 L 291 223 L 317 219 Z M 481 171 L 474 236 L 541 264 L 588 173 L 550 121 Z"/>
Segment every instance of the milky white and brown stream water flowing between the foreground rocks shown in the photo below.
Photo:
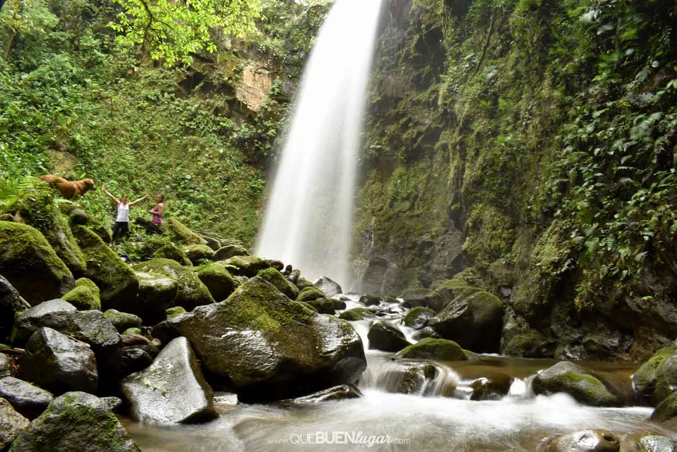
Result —
<path fill-rule="evenodd" d="M 347 307 L 364 307 L 355 300 Z M 394 307 L 382 303 L 378 314 L 399 325 L 403 315 L 393 313 Z M 365 344 L 369 323 L 353 322 Z M 367 350 L 366 356 L 368 367 L 359 381 L 362 398 L 294 406 L 222 405 L 219 419 L 198 426 L 123 421 L 144 452 L 534 451 L 546 436 L 589 428 L 621 438 L 647 431 L 677 438 L 677 431 L 648 422 L 651 408 L 593 408 L 566 394 L 535 396 L 531 378 L 552 360 L 483 355 L 477 361 L 393 361 L 393 354 L 377 350 Z M 621 391 L 630 390 L 636 369 L 631 363 L 582 365 Z M 432 372 L 424 370 L 429 367 Z M 514 378 L 508 394 L 470 400 L 471 382 L 496 374 Z"/>

